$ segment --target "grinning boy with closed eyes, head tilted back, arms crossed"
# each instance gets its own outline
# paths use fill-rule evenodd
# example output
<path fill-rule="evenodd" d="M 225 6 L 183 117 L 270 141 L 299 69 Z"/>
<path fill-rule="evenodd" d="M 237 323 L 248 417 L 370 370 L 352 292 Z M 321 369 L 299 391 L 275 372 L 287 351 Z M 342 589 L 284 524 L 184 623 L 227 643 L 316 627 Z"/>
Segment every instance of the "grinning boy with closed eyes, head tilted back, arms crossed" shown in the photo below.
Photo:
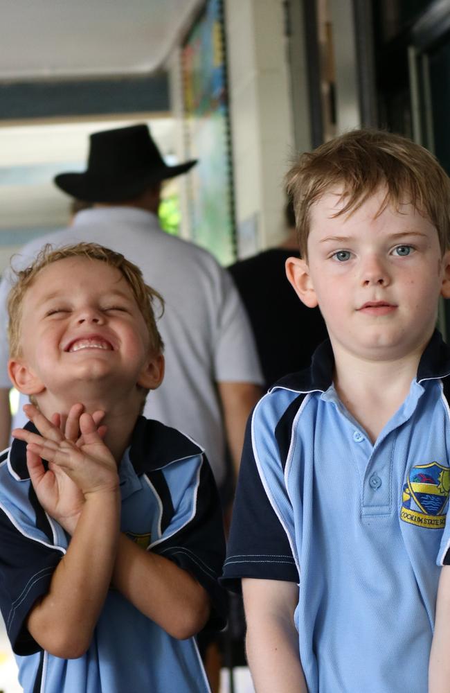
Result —
<path fill-rule="evenodd" d="M 223 620 L 222 515 L 201 448 L 140 416 L 154 301 L 92 243 L 45 247 L 10 292 L 33 404 L 0 457 L 0 607 L 25 693 L 209 690 L 193 636 Z"/>

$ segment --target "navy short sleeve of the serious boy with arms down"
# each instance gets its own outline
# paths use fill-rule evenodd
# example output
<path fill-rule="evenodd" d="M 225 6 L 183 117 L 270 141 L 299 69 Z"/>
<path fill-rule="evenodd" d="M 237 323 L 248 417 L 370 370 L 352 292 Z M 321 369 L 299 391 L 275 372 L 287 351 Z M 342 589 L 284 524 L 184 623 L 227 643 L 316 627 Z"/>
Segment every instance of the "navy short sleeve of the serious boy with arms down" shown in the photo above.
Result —
<path fill-rule="evenodd" d="M 246 429 L 221 582 L 237 592 L 243 577 L 298 582 L 287 534 L 267 497 L 255 462 L 251 419 Z"/>

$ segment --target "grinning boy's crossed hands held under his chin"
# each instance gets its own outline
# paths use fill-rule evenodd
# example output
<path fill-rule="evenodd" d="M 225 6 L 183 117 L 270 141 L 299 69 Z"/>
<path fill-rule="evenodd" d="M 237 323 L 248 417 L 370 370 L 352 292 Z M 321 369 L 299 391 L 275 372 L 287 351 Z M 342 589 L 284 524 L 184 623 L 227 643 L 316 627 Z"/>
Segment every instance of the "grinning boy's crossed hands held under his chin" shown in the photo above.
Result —
<path fill-rule="evenodd" d="M 27 444 L 28 472 L 39 503 L 73 534 L 89 497 L 118 491 L 116 460 L 102 440 L 105 412 L 88 414 L 81 403 L 74 404 L 67 416 L 53 414 L 51 421 L 33 404 L 25 405 L 24 412 L 40 435 L 25 428 L 13 430 L 12 435 Z"/>

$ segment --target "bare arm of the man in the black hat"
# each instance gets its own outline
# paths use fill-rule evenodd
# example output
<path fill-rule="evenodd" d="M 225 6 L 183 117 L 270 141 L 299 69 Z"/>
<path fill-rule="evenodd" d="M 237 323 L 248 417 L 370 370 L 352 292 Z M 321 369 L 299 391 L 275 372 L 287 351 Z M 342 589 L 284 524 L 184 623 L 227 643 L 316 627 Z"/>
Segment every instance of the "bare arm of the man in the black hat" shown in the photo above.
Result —
<path fill-rule="evenodd" d="M 242 446 L 247 419 L 255 404 L 262 397 L 262 387 L 254 383 L 217 383 L 219 397 L 222 403 L 226 438 L 235 472 L 235 480 L 239 472 Z"/>

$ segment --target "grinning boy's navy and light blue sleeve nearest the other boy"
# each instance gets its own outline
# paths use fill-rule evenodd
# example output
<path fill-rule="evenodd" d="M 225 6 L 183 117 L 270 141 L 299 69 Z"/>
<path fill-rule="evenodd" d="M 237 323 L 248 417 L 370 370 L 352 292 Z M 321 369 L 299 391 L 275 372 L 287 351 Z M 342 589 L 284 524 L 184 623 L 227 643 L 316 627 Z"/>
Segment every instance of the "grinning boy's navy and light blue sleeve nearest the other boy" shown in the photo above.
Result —
<path fill-rule="evenodd" d="M 208 627 L 226 623 L 226 592 L 219 584 L 225 558 L 222 509 L 213 473 L 204 455 L 163 469 L 174 512 L 152 551 L 192 574 L 210 596 L 213 610 Z"/>

